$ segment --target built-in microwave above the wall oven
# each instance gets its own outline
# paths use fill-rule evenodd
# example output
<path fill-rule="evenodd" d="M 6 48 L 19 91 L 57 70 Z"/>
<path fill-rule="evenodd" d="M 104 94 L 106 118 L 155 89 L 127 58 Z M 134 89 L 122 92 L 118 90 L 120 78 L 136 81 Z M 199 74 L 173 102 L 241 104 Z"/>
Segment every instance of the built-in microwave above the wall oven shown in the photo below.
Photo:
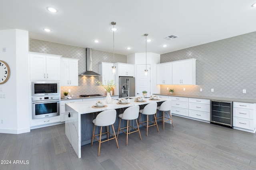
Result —
<path fill-rule="evenodd" d="M 59 82 L 32 82 L 32 96 L 60 95 Z"/>

